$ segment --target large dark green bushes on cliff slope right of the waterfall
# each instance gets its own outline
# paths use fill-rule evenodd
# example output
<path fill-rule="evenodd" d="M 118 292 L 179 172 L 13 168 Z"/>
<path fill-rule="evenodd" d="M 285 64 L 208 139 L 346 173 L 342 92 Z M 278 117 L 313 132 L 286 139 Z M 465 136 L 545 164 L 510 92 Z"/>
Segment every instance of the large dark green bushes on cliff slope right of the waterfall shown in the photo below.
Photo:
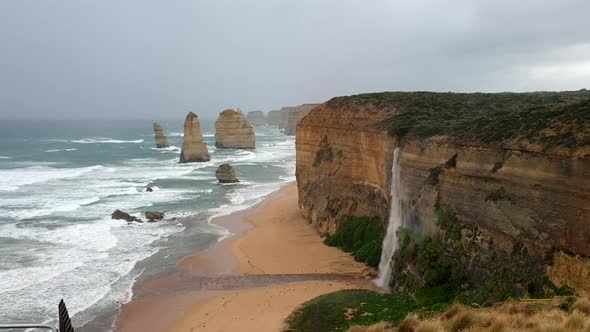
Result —
<path fill-rule="evenodd" d="M 529 256 L 526 247 L 517 245 L 505 253 L 447 209 L 438 209 L 436 224 L 442 230 L 437 238 L 401 232 L 393 259 L 394 289 L 422 299 L 434 297 L 434 302 L 481 305 L 547 295 L 544 264 Z"/>

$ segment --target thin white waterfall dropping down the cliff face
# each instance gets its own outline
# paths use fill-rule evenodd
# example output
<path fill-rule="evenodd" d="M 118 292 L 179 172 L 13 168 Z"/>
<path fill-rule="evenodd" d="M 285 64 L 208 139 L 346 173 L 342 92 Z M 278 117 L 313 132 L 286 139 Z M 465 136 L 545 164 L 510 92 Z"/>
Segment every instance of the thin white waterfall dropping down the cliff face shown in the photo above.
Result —
<path fill-rule="evenodd" d="M 393 151 L 393 164 L 391 166 L 391 205 L 389 208 L 389 223 L 387 232 L 383 238 L 383 250 L 381 260 L 379 261 L 379 275 L 375 279 L 375 284 L 384 289 L 389 289 L 389 279 L 391 278 L 391 258 L 397 249 L 397 230 L 403 224 L 402 201 L 400 195 L 400 175 L 399 175 L 399 148 Z"/>

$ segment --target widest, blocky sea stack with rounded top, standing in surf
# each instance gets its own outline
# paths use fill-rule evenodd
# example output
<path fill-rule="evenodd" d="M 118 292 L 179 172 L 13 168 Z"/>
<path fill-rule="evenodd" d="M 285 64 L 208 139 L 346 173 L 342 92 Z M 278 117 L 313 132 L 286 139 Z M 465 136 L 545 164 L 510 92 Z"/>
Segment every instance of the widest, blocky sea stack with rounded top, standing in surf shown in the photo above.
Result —
<path fill-rule="evenodd" d="M 220 149 L 254 149 L 254 128 L 242 113 L 233 109 L 225 110 L 219 113 L 215 122 L 215 146 Z"/>

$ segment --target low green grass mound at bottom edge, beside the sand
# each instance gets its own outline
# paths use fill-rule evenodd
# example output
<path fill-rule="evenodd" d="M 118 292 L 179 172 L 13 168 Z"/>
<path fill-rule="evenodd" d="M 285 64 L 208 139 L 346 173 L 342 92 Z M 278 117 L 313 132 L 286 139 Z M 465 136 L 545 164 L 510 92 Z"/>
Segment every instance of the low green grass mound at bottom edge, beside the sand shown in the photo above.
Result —
<path fill-rule="evenodd" d="M 343 290 L 302 304 L 287 318 L 285 331 L 346 331 L 352 325 L 381 321 L 398 324 L 418 308 L 411 297 L 368 290 Z"/>

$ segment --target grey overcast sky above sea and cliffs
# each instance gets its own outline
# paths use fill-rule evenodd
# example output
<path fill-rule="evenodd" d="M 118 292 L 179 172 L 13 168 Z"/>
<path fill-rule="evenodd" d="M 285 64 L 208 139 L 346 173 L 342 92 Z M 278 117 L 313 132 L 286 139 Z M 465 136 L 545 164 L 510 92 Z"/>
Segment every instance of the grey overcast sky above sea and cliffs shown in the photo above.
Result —
<path fill-rule="evenodd" d="M 0 115 L 590 88 L 590 1 L 0 0 Z"/>

